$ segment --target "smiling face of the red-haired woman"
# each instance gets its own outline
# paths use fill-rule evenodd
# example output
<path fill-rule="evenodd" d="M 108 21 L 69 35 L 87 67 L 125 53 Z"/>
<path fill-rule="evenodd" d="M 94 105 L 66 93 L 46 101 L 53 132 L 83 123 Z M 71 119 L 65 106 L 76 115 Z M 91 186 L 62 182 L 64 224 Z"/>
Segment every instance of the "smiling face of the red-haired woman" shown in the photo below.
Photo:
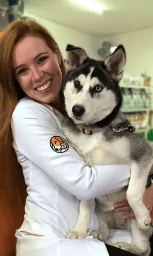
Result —
<path fill-rule="evenodd" d="M 44 103 L 59 101 L 62 72 L 59 59 L 40 37 L 27 36 L 14 47 L 12 63 L 20 87 Z"/>

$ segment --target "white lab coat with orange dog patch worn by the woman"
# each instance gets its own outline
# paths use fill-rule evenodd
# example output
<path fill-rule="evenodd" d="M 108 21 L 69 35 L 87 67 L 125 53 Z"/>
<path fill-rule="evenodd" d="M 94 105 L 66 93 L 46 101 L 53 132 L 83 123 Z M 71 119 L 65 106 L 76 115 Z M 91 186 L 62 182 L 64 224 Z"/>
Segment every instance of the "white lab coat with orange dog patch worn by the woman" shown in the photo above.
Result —
<path fill-rule="evenodd" d="M 20 100 L 13 112 L 13 147 L 28 186 L 24 222 L 16 231 L 17 256 L 108 255 L 103 242 L 91 237 L 71 241 L 65 236 L 77 222 L 79 199 L 120 190 L 129 182 L 130 168 L 127 165 L 89 167 L 67 142 L 60 151 L 56 139 L 66 140 L 62 134 L 63 118 L 57 110 L 28 97 Z M 97 229 L 98 225 L 93 207 L 91 229 Z M 114 231 L 110 232 L 116 239 Z M 128 232 L 118 232 L 122 241 L 131 241 Z M 116 241 L 113 239 L 108 243 Z"/>

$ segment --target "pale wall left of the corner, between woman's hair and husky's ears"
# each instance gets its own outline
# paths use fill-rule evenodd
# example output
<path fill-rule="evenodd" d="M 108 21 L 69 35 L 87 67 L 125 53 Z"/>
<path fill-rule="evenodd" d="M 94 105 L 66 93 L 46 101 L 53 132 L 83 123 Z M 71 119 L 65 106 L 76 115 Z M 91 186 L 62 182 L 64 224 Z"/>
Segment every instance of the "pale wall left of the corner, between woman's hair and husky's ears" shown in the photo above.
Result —
<path fill-rule="evenodd" d="M 31 15 L 29 13 L 24 13 L 24 16 L 33 17 L 38 23 L 44 26 L 50 32 L 50 34 L 52 34 L 52 36 L 57 41 L 57 44 L 59 45 L 59 48 L 64 58 L 66 58 L 65 49 L 67 44 L 84 48 L 91 58 L 98 57 L 96 55 L 96 45 L 98 43 L 96 37 L 90 36 L 77 30 L 70 29 L 68 27 L 61 26 L 59 24 L 50 22 L 49 20 Z"/>

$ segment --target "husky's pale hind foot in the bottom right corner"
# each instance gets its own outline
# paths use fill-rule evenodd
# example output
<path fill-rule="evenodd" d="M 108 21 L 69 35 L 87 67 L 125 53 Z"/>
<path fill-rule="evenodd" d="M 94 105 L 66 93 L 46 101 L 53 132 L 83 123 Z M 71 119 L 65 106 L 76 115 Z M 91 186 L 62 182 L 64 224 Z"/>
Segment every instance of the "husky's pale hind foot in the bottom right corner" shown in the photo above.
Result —
<path fill-rule="evenodd" d="M 151 236 L 152 227 L 148 230 L 140 230 L 135 219 L 131 220 L 131 228 L 133 234 L 133 243 L 117 242 L 112 246 L 132 252 L 136 255 L 148 256 L 150 253 L 149 237 Z"/>

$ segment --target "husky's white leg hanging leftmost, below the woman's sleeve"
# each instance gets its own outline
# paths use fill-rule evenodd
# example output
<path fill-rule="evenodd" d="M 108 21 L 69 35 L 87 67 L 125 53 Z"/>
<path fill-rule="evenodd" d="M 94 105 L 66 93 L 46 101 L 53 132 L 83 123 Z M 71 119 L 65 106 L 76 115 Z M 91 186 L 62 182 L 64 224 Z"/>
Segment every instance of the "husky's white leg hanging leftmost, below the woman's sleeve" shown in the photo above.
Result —
<path fill-rule="evenodd" d="M 67 239 L 83 239 L 87 237 L 90 228 L 94 199 L 81 200 L 79 219 L 74 229 L 67 234 Z"/>

